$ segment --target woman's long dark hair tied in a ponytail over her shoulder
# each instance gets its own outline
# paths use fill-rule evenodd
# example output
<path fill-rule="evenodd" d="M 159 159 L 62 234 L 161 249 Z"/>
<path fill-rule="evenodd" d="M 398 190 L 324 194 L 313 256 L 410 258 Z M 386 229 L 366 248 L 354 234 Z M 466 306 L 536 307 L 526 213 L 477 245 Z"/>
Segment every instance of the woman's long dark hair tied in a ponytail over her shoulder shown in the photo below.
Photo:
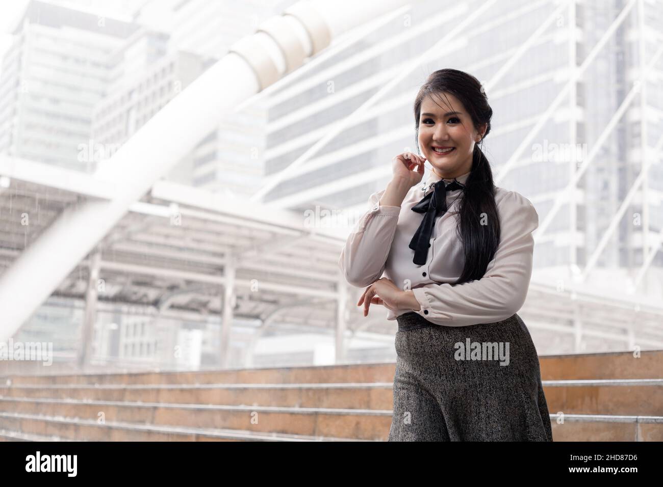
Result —
<path fill-rule="evenodd" d="M 483 139 L 491 131 L 491 118 L 493 109 L 488 104 L 488 98 L 483 92 L 481 83 L 471 74 L 458 70 L 444 69 L 433 72 L 422 85 L 414 101 L 415 144 L 419 149 L 419 117 L 422 101 L 426 96 L 444 95 L 451 93 L 455 96 L 469 113 L 472 123 L 477 131 L 487 125 Z M 449 100 L 447 103 L 451 105 Z M 479 131 L 479 133 L 481 133 Z M 463 244 L 465 265 L 463 273 L 454 284 L 461 284 L 483 277 L 488 264 L 493 260 L 500 241 L 500 224 L 497 205 L 495 204 L 495 184 L 493 184 L 493 171 L 490 163 L 483 154 L 479 144 L 475 144 L 472 156 L 472 168 L 463 197 L 460 199 L 458 217 L 459 225 L 456 233 Z M 487 217 L 487 225 L 481 225 L 481 219 Z"/>

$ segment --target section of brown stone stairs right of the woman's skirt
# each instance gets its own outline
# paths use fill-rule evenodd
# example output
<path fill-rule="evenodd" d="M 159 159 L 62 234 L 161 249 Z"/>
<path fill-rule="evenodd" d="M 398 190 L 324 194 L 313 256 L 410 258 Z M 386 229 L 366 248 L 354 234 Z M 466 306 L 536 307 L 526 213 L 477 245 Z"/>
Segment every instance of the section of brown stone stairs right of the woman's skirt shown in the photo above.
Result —
<path fill-rule="evenodd" d="M 663 351 L 540 362 L 555 441 L 663 441 Z"/>

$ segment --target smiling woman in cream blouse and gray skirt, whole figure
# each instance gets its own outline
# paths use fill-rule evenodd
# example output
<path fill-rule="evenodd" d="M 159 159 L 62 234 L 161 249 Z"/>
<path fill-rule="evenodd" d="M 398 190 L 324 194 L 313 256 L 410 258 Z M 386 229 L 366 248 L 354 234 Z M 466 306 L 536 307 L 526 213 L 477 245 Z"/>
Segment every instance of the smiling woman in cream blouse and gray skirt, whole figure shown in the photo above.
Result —
<path fill-rule="evenodd" d="M 414 103 L 423 156 L 394 158 L 341 252 L 346 280 L 367 286 L 364 316 L 383 305 L 398 321 L 389 441 L 552 441 L 538 355 L 516 313 L 538 214 L 493 184 L 477 145 L 492 115 L 476 78 L 431 74 Z"/>

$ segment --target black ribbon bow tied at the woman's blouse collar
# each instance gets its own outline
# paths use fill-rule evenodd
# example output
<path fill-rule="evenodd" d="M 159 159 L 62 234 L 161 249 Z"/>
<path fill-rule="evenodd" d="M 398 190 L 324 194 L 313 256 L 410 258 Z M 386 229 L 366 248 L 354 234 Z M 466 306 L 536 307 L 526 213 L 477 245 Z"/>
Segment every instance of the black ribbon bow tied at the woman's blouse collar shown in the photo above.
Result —
<path fill-rule="evenodd" d="M 447 211 L 447 191 L 454 189 L 463 189 L 464 186 L 453 180 L 445 186 L 444 180 L 440 180 L 433 185 L 434 190 L 424 196 L 419 203 L 412 207 L 412 211 L 424 213 L 419 228 L 414 233 L 410 241 L 410 248 L 414 250 L 412 262 L 418 266 L 426 264 L 428 258 L 428 246 L 430 244 L 430 235 L 435 227 L 435 219 L 444 215 Z"/>

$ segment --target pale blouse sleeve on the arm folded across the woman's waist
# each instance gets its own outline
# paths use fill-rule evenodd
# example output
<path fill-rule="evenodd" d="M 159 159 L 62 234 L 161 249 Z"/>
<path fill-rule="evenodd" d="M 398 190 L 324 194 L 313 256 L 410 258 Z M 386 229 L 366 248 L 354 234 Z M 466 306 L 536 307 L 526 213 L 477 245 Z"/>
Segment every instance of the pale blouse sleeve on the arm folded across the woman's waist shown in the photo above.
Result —
<path fill-rule="evenodd" d="M 497 203 L 500 244 L 481 279 L 462 284 L 426 284 L 412 292 L 414 311 L 437 325 L 463 327 L 511 317 L 522 307 L 532 277 L 538 213 L 524 196 L 509 191 Z"/>

